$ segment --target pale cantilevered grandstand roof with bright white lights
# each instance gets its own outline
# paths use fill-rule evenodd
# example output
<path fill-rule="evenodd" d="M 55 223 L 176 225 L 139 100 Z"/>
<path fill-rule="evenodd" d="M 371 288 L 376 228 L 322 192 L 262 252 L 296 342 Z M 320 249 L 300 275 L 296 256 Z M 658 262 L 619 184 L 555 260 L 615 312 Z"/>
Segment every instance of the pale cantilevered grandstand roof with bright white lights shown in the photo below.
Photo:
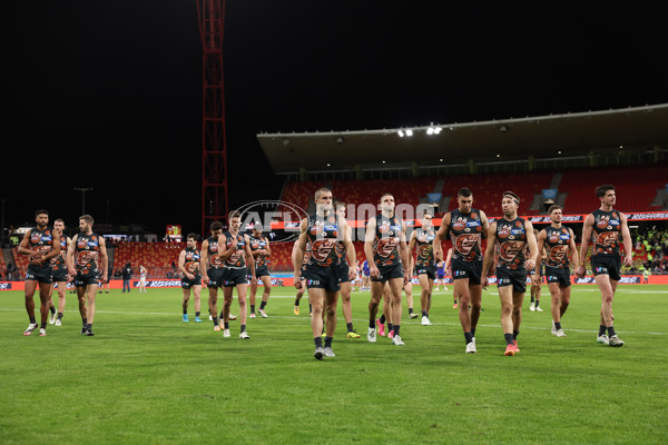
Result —
<path fill-rule="evenodd" d="M 464 123 L 412 127 L 412 137 L 399 137 L 400 128 L 259 134 L 257 139 L 276 174 L 299 168 L 315 170 L 394 166 L 462 164 L 475 161 L 581 156 L 589 151 L 668 147 L 668 103 L 654 106 L 510 118 Z M 403 128 L 406 130 L 406 128 Z M 561 151 L 561 154 L 558 154 Z M 501 155 L 501 159 L 497 157 Z M 440 159 L 443 159 L 442 161 Z M 330 164 L 330 166 L 327 166 Z"/>

